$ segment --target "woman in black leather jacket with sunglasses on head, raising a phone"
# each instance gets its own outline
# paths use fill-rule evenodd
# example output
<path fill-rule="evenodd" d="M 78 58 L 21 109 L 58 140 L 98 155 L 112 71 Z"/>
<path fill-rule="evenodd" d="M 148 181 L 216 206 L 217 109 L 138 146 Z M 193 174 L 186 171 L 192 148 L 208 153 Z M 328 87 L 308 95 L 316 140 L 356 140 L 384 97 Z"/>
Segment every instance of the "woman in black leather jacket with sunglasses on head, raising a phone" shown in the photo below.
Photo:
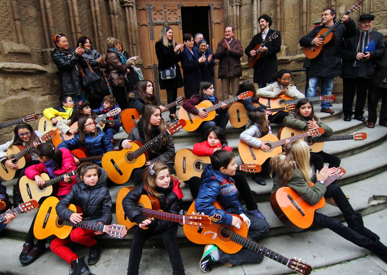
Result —
<path fill-rule="evenodd" d="M 71 96 L 74 101 L 84 100 L 85 95 L 80 95 L 80 81 L 77 64 L 82 60 L 83 48 L 73 50 L 68 47 L 68 41 L 63 33 L 53 37 L 55 50 L 51 53 L 52 61 L 58 67 L 62 95 Z"/>

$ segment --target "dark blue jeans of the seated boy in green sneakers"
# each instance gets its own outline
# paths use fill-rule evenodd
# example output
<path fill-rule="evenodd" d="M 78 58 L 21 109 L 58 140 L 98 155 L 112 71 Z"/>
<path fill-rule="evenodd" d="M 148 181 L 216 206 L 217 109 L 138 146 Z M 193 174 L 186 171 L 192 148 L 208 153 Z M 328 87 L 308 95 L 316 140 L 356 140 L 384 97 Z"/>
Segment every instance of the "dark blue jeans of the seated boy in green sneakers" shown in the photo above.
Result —
<path fill-rule="evenodd" d="M 249 239 L 257 241 L 266 235 L 266 233 L 269 231 L 269 223 L 267 223 L 266 220 L 248 214 L 246 214 L 246 216 L 250 219 L 251 222 L 247 233 L 247 237 Z M 234 254 L 224 253 L 221 251 L 221 249 L 218 249 L 218 251 L 219 262 L 232 263 L 233 265 L 241 265 L 244 263 L 260 263 L 264 258 L 264 255 L 255 253 L 246 247 L 242 247 L 240 251 Z"/>

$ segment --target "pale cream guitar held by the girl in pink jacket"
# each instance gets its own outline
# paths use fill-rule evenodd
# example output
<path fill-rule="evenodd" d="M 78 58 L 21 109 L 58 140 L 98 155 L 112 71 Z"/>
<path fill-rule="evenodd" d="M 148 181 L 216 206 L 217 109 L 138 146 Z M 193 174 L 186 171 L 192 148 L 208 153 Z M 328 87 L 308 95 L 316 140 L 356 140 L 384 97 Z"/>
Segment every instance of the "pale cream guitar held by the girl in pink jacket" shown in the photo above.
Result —
<path fill-rule="evenodd" d="M 77 169 L 67 172 L 66 174 L 60 175 L 53 179 L 50 179 L 48 174 L 42 173 L 40 176 L 45 180 L 45 184 L 43 186 L 39 186 L 36 184 L 36 181 L 33 179 L 27 178 L 27 176 L 21 177 L 19 181 L 20 194 L 22 195 L 23 201 L 27 201 L 29 199 L 36 199 L 39 201 L 43 197 L 51 196 L 53 192 L 53 184 L 56 184 L 62 180 L 64 180 L 64 176 L 74 176 L 77 174 Z"/>

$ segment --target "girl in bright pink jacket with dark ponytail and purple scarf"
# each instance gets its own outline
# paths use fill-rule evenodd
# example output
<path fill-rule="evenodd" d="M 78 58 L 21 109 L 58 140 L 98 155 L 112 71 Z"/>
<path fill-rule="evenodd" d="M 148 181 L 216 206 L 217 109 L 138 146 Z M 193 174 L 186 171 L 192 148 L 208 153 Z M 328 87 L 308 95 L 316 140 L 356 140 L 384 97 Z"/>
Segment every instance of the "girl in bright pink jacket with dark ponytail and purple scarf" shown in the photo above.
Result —
<path fill-rule="evenodd" d="M 28 167 L 26 169 L 26 177 L 31 180 L 34 179 L 36 184 L 39 186 L 43 186 L 45 184 L 45 180 L 40 176 L 42 173 L 48 174 L 50 179 L 53 179 L 77 168 L 74 162 L 74 157 L 69 150 L 64 148 L 54 148 L 51 143 L 39 144 L 36 147 L 36 155 L 38 156 L 40 163 Z M 71 187 L 75 183 L 77 183 L 75 175 L 72 177 L 64 176 L 62 181 L 55 184 L 57 191 L 54 191 L 53 195 L 59 198 L 64 198 L 70 192 Z M 39 203 L 41 203 L 43 199 Z M 19 260 L 22 265 L 29 265 L 30 263 L 33 263 L 46 251 L 46 239 L 38 240 L 36 244 L 34 244 L 35 219 L 36 215 L 31 223 L 26 241 L 23 245 L 23 250 L 19 256 Z"/>

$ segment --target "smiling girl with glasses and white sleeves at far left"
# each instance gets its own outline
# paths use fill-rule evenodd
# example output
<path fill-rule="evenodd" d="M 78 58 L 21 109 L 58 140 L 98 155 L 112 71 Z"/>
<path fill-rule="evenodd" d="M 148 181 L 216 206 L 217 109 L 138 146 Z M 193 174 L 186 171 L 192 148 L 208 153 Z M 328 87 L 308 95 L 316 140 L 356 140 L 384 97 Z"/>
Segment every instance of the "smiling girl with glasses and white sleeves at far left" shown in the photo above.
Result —
<path fill-rule="evenodd" d="M 17 165 L 17 163 L 15 164 L 11 160 L 8 160 L 8 156 L 5 152 L 8 151 L 8 149 L 14 145 L 21 145 L 26 147 L 31 144 L 34 144 L 34 148 L 31 151 L 29 151 L 29 154 L 31 155 L 31 160 L 32 160 L 30 165 L 39 163 L 38 156 L 35 153 L 35 148 L 36 146 L 38 146 L 38 143 L 36 143 L 35 141 L 37 141 L 42 135 L 43 135 L 42 132 L 34 131 L 32 126 L 25 122 L 17 124 L 16 127 L 14 128 L 14 137 L 12 138 L 12 140 L 0 145 L 0 162 L 6 167 L 9 167 L 12 169 L 19 169 L 19 165 Z M 13 186 L 14 207 L 17 207 L 19 204 L 23 202 L 20 194 L 20 190 L 19 190 L 19 181 L 21 177 L 24 176 L 24 172 L 27 167 L 28 166 L 26 164 L 26 167 L 20 170 L 17 183 Z"/>

